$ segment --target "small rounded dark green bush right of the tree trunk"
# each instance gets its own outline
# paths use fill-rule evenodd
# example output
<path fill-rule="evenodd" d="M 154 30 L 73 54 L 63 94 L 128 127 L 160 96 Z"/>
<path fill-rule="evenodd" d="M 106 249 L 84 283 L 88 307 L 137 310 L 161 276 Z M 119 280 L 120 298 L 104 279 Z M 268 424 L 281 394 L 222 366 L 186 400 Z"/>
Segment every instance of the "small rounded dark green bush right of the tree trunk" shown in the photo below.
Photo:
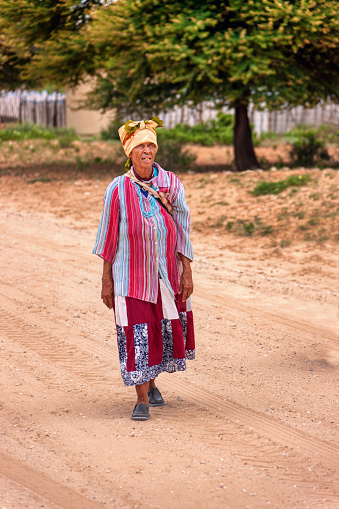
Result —
<path fill-rule="evenodd" d="M 313 129 L 303 131 L 293 143 L 290 156 L 296 166 L 314 166 L 315 163 L 328 161 L 330 156 L 324 142 L 318 138 Z"/>

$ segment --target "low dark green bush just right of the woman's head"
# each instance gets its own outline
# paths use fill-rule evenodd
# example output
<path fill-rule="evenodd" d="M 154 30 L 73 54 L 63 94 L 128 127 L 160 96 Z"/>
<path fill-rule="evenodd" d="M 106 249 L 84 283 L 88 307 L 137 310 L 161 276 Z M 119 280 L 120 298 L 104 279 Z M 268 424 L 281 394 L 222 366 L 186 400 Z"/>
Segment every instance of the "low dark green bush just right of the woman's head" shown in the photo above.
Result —
<path fill-rule="evenodd" d="M 156 161 L 166 171 L 185 172 L 192 169 L 196 156 L 185 150 L 183 144 L 175 140 L 159 143 Z"/>

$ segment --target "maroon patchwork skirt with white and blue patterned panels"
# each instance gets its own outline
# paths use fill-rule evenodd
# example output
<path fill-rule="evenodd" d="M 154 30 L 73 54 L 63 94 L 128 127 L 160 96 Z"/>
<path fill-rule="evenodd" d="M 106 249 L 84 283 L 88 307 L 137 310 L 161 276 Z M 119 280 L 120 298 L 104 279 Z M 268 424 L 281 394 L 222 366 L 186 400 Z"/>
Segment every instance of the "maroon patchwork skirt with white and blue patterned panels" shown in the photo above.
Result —
<path fill-rule="evenodd" d="M 195 358 L 191 298 L 173 299 L 161 279 L 156 304 L 116 296 L 114 313 L 125 385 L 143 384 L 163 371 L 184 371 L 186 359 Z"/>

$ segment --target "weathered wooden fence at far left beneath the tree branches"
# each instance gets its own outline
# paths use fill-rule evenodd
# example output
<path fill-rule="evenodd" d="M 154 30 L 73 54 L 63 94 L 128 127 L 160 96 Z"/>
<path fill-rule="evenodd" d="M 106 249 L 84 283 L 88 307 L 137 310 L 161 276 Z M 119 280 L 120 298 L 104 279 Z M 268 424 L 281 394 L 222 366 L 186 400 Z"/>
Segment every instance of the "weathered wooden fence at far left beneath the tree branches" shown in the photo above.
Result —
<path fill-rule="evenodd" d="M 66 96 L 47 92 L 0 93 L 0 123 L 4 122 L 65 127 Z"/>

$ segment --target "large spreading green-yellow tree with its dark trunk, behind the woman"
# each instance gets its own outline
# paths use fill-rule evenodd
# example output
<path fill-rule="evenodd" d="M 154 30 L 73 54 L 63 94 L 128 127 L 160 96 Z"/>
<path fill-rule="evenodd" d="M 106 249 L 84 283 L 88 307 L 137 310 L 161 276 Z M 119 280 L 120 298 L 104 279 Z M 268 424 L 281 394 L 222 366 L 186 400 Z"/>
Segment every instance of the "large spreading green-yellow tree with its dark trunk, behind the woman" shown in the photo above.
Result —
<path fill-rule="evenodd" d="M 99 109 L 233 107 L 240 171 L 258 167 L 250 102 L 339 101 L 336 1 L 1 0 L 0 28 L 27 59 L 22 79 L 76 85 L 96 75 L 89 99 Z"/>

